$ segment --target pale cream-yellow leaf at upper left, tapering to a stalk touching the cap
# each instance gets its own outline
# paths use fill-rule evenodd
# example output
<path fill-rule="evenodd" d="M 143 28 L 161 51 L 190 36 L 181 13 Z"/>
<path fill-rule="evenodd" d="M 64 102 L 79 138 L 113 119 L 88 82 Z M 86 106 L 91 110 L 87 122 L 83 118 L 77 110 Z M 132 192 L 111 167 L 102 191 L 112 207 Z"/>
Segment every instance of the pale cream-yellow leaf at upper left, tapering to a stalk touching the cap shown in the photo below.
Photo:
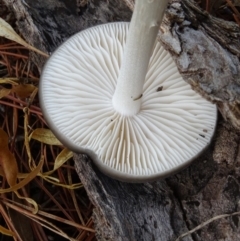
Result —
<path fill-rule="evenodd" d="M 26 48 L 28 48 L 29 50 L 35 51 L 45 57 L 48 57 L 48 54 L 42 52 L 39 49 L 34 48 L 33 46 L 31 46 L 30 44 L 28 44 L 25 40 L 23 40 L 15 31 L 14 29 L 11 27 L 11 25 L 9 25 L 7 22 L 5 22 L 2 18 L 0 18 L 0 36 L 5 37 L 7 39 L 10 39 L 14 42 L 17 42 L 23 46 L 25 46 Z"/>

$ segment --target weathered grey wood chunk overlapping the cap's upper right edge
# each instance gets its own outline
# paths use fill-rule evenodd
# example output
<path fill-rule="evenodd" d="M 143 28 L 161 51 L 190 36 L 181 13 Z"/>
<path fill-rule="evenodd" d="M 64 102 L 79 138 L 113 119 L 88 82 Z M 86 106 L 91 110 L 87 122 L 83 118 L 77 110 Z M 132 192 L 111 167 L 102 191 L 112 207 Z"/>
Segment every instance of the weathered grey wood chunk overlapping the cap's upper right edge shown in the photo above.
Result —
<path fill-rule="evenodd" d="M 172 0 L 160 40 L 186 82 L 216 102 L 240 129 L 240 28 L 201 10 L 193 1 Z"/>

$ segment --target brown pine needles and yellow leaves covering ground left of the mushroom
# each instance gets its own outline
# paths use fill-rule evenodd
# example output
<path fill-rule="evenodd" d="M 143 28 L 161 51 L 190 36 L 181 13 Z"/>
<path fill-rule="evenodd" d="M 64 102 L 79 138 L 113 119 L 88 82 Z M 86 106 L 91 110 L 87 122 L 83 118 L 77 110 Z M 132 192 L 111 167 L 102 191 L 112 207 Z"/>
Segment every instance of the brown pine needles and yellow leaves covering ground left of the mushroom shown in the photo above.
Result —
<path fill-rule="evenodd" d="M 73 153 L 49 130 L 39 108 L 39 74 L 28 50 L 48 55 L 2 18 L 0 36 L 9 39 L 0 37 L 0 233 L 13 240 L 29 240 L 29 233 L 39 241 L 96 240 L 93 205 Z M 21 216 L 29 222 L 16 221 Z"/>

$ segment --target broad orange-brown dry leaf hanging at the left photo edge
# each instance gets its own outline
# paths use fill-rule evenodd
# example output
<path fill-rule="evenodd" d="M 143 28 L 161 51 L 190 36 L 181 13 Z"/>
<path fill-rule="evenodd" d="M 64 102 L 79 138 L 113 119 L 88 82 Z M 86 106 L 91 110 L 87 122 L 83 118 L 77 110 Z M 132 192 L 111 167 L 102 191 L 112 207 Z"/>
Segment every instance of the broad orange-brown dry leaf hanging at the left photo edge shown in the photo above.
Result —
<path fill-rule="evenodd" d="M 8 149 L 8 135 L 0 128 L 0 165 L 10 187 L 17 183 L 18 166 L 15 157 Z"/>

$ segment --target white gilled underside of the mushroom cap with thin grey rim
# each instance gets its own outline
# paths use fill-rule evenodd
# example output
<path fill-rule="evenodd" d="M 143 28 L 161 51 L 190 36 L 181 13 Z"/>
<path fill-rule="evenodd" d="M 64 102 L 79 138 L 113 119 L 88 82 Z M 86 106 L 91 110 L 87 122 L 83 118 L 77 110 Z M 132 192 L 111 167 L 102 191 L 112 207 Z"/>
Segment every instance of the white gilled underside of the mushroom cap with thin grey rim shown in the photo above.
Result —
<path fill-rule="evenodd" d="M 69 149 L 88 154 L 105 174 L 144 182 L 175 173 L 211 142 L 214 104 L 195 93 L 156 42 L 142 106 L 122 116 L 112 105 L 129 23 L 99 25 L 63 43 L 40 81 L 44 117 Z"/>

